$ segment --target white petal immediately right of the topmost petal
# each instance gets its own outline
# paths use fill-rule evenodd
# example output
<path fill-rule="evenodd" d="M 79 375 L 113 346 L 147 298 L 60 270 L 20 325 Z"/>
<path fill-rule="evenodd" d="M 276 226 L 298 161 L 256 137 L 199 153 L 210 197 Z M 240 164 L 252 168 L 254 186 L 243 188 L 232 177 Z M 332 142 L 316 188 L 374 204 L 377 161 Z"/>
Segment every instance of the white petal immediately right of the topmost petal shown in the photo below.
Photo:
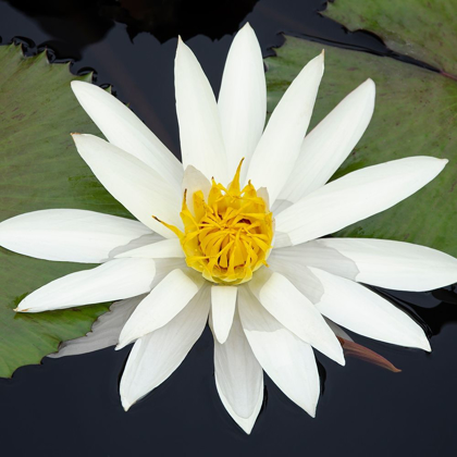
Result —
<path fill-rule="evenodd" d="M 267 187 L 273 205 L 300 152 L 323 74 L 323 53 L 311 60 L 287 88 L 271 115 L 249 163 L 247 178 Z"/>

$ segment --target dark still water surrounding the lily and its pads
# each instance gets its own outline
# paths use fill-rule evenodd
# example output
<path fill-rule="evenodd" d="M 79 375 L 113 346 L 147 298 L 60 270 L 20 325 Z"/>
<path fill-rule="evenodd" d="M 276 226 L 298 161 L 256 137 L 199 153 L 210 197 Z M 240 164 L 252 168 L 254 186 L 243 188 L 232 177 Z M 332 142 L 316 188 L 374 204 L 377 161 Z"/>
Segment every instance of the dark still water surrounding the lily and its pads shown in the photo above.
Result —
<path fill-rule="evenodd" d="M 95 69 L 118 96 L 177 150 L 173 59 L 181 34 L 214 89 L 239 23 L 255 27 L 264 54 L 279 32 L 390 54 L 374 36 L 347 34 L 321 17 L 321 0 L 0 1 L 2 42 L 47 46 L 74 72 Z M 382 292 L 424 325 L 433 353 L 358 337 L 403 370 L 395 374 L 318 355 L 323 395 L 316 419 L 267 379 L 267 402 L 250 436 L 222 407 L 207 331 L 180 369 L 125 413 L 118 382 L 128 348 L 25 367 L 0 380 L 1 456 L 456 456 L 457 293 Z"/>

